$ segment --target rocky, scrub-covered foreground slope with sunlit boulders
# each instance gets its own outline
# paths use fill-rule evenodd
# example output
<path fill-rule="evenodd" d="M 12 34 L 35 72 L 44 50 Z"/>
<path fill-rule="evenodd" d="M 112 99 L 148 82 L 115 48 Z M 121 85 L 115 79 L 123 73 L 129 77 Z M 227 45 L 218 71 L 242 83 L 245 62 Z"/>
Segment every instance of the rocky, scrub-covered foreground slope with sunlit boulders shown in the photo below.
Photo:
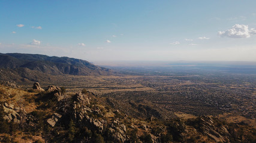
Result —
<path fill-rule="evenodd" d="M 111 99 L 86 89 L 71 94 L 64 87 L 31 87 L 24 91 L 0 85 L 1 142 L 256 141 L 255 128 L 213 116 L 133 117 L 101 104 Z"/>

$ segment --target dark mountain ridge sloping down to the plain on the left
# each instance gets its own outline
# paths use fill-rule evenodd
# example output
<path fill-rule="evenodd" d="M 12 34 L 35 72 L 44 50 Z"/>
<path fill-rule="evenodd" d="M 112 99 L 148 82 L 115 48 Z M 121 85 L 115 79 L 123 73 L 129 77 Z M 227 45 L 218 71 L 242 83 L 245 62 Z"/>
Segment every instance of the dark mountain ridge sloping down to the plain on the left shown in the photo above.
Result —
<path fill-rule="evenodd" d="M 104 67 L 68 57 L 8 53 L 0 54 L 0 61 L 0 80 L 14 80 L 16 82 L 47 80 L 49 75 L 99 76 L 112 74 L 111 70 Z"/>

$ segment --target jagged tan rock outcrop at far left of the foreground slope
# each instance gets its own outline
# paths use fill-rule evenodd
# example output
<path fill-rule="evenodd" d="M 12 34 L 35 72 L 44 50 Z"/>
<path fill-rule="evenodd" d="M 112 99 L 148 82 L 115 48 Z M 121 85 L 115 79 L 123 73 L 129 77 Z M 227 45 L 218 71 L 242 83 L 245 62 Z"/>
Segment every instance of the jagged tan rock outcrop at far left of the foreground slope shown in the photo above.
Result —
<path fill-rule="evenodd" d="M 5 104 L 5 105 L 8 106 L 8 104 Z M 20 115 L 16 111 L 6 107 L 5 105 L 3 107 L 4 107 L 4 112 L 7 113 L 7 115 L 4 116 L 4 119 L 8 120 L 8 122 L 20 123 Z"/>

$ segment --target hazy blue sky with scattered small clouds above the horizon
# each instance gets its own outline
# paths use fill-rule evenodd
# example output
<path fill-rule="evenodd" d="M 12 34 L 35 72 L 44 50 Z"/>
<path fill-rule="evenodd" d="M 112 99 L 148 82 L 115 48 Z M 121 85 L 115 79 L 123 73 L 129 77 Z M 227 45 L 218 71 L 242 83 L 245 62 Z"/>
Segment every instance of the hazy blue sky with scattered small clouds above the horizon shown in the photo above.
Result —
<path fill-rule="evenodd" d="M 0 1 L 0 52 L 256 61 L 255 0 Z"/>

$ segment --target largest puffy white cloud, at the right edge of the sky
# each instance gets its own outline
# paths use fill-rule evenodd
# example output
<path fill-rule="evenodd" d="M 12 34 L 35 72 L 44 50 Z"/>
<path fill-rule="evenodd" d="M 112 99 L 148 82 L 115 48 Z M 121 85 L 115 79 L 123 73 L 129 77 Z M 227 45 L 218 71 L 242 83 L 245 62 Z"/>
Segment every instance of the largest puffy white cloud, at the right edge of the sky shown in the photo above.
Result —
<path fill-rule="evenodd" d="M 256 29 L 249 30 L 248 25 L 235 24 L 231 29 L 218 32 L 218 35 L 228 38 L 249 38 L 251 35 L 256 35 Z"/>

